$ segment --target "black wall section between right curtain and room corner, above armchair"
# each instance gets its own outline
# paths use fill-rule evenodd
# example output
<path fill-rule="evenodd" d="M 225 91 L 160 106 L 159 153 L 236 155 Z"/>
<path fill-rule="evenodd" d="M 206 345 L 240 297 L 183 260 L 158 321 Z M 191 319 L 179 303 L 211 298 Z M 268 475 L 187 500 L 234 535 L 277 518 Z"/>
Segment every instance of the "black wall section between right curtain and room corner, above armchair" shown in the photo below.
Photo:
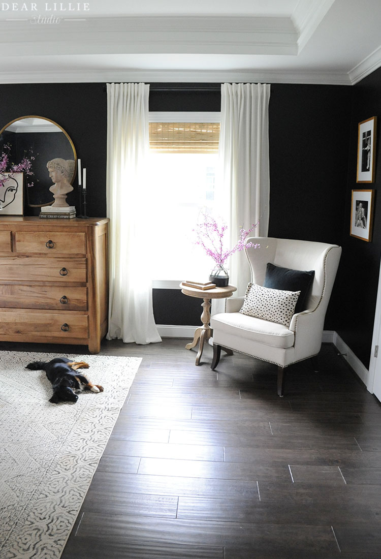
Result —
<path fill-rule="evenodd" d="M 351 89 L 272 84 L 269 236 L 340 244 Z"/>

